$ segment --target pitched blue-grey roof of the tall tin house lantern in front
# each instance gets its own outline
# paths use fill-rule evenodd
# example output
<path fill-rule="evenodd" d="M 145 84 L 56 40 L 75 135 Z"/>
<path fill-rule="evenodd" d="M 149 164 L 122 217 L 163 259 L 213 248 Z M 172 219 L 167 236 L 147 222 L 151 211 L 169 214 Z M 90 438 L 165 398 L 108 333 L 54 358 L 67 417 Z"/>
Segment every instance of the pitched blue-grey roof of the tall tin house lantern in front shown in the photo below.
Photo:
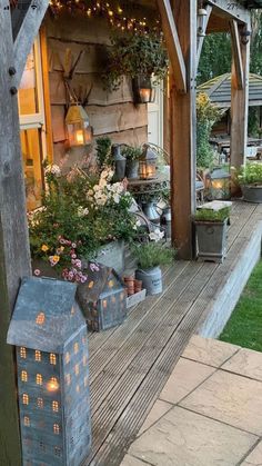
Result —
<path fill-rule="evenodd" d="M 62 354 L 67 341 L 85 320 L 75 301 L 77 285 L 50 278 L 21 282 L 7 341 L 47 353 Z"/>

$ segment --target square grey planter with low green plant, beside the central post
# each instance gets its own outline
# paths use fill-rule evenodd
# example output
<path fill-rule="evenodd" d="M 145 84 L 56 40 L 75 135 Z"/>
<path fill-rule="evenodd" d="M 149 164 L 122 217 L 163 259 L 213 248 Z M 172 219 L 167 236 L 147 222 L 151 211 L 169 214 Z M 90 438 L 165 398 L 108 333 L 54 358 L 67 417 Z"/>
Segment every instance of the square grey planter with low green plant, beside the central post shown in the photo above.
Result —
<path fill-rule="evenodd" d="M 199 208 L 194 217 L 196 257 L 222 262 L 226 254 L 226 231 L 231 202 L 213 201 Z"/>

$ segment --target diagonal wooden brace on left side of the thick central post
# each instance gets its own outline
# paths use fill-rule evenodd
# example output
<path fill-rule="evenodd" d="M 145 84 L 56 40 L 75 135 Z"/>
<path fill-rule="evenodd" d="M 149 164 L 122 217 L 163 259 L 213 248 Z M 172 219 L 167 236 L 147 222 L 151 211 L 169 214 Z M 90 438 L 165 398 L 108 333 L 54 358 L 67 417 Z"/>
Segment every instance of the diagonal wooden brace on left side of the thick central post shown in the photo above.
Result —
<path fill-rule="evenodd" d="M 162 19 L 164 38 L 168 46 L 175 86 L 180 92 L 187 92 L 187 72 L 179 36 L 171 9 L 170 0 L 157 0 Z"/>

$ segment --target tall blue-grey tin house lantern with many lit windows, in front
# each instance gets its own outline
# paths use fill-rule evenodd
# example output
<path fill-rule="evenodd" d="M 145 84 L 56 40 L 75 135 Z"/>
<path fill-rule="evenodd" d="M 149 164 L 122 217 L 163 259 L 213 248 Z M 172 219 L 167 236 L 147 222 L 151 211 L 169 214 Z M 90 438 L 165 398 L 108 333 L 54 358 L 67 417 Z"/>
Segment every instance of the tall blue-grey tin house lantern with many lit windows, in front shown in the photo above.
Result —
<path fill-rule="evenodd" d="M 17 347 L 23 466 L 79 466 L 91 444 L 87 324 L 77 286 L 22 280 L 8 331 Z"/>

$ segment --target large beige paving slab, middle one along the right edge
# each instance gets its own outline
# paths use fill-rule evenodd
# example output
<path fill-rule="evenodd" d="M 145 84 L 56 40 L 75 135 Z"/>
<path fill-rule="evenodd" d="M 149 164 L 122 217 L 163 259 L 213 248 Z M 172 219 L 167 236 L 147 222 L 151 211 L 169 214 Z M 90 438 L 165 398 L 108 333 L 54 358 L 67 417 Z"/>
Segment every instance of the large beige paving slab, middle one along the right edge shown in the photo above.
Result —
<path fill-rule="evenodd" d="M 262 435 L 261 381 L 218 370 L 182 400 L 181 406 Z"/>

